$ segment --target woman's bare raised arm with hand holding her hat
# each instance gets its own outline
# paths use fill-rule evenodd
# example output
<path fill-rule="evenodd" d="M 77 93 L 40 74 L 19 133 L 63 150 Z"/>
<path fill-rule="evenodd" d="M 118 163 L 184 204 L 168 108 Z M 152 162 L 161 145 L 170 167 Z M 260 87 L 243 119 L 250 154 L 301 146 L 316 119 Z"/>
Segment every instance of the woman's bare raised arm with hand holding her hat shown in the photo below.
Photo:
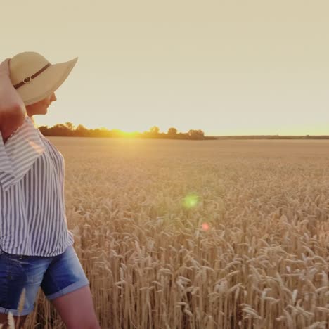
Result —
<path fill-rule="evenodd" d="M 4 143 L 24 122 L 25 104 L 11 83 L 9 61 L 0 64 L 0 132 Z"/>

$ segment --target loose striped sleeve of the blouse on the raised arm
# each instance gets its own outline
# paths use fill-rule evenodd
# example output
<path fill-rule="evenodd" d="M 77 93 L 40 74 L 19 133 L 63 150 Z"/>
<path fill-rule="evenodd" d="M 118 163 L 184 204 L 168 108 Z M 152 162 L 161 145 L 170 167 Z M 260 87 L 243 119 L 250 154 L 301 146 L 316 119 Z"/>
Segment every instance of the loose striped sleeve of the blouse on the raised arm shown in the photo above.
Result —
<path fill-rule="evenodd" d="M 0 136 L 0 183 L 8 191 L 25 176 L 45 148 L 28 116 L 5 144 L 1 132 Z"/>

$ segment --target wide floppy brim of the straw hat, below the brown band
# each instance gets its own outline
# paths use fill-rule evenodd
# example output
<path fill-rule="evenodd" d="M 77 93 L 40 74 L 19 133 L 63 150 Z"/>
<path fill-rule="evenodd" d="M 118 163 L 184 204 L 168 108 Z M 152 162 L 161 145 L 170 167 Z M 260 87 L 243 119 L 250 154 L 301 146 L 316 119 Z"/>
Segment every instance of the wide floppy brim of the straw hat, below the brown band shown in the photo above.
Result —
<path fill-rule="evenodd" d="M 56 91 L 75 67 L 77 60 L 76 57 L 68 62 L 53 64 L 31 82 L 16 89 L 25 106 L 37 103 Z"/>

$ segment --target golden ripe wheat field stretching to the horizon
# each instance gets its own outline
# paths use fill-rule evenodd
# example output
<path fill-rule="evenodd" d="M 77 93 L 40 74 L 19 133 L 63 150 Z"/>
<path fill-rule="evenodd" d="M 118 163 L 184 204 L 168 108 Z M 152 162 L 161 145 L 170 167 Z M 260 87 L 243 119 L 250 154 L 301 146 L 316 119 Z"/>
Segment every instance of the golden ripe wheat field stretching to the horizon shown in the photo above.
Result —
<path fill-rule="evenodd" d="M 49 140 L 101 328 L 329 327 L 329 141 Z"/>

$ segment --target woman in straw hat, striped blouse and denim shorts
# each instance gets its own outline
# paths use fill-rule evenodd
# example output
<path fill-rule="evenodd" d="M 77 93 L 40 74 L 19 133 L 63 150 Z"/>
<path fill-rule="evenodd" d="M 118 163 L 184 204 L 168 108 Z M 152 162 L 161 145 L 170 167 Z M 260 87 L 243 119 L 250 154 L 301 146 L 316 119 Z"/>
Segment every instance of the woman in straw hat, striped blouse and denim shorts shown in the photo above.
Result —
<path fill-rule="evenodd" d="M 100 328 L 89 280 L 67 228 L 63 155 L 34 126 L 56 101 L 77 58 L 51 64 L 35 52 L 0 65 L 0 323 L 23 328 L 39 287 L 67 328 Z M 19 299 L 25 290 L 25 302 Z M 1 325 L 0 325 L 1 327 Z"/>

